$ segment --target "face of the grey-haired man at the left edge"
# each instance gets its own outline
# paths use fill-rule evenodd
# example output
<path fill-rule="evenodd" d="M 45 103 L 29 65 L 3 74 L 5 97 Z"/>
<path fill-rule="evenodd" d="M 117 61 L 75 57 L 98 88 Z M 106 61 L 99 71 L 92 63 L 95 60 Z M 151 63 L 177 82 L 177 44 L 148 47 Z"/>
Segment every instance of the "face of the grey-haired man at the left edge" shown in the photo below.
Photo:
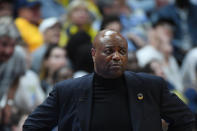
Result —
<path fill-rule="evenodd" d="M 7 61 L 12 56 L 14 47 L 14 39 L 8 36 L 0 37 L 0 63 Z"/>

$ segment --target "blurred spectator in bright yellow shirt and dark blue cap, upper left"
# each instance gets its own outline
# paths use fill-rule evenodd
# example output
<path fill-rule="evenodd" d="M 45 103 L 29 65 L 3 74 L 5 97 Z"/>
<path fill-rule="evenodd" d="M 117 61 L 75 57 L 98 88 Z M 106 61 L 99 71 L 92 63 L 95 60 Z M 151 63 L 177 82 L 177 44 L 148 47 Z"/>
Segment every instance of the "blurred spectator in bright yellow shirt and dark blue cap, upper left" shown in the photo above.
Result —
<path fill-rule="evenodd" d="M 38 29 L 41 21 L 40 2 L 36 0 L 16 0 L 15 24 L 22 39 L 33 52 L 43 44 L 43 36 Z"/>

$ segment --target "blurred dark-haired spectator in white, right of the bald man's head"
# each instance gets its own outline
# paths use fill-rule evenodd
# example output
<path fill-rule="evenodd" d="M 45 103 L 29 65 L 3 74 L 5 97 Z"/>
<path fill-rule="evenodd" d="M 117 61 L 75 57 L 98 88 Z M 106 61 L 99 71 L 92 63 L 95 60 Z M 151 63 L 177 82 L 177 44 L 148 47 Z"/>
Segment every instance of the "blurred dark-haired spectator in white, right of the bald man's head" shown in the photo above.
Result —
<path fill-rule="evenodd" d="M 182 79 L 180 77 L 180 69 L 176 59 L 172 54 L 172 27 L 173 26 L 168 19 L 160 19 L 154 25 L 152 30 L 153 36 L 150 36 L 149 39 L 152 47 L 148 45 L 137 51 L 137 58 L 141 67 L 153 59 L 162 62 L 162 68 L 166 79 L 175 86 L 176 90 L 182 92 L 183 85 Z"/>

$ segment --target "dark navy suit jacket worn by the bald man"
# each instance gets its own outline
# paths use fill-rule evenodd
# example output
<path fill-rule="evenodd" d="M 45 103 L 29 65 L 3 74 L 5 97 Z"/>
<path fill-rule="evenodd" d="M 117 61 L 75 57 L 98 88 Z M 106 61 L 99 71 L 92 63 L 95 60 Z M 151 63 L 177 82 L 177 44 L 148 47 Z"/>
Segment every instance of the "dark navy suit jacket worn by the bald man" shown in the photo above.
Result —
<path fill-rule="evenodd" d="M 194 116 L 159 77 L 125 72 L 133 131 L 162 131 L 161 118 L 169 131 L 191 131 Z M 24 131 L 89 131 L 93 74 L 58 83 L 46 101 L 25 121 Z M 139 99 L 139 93 L 143 98 Z"/>

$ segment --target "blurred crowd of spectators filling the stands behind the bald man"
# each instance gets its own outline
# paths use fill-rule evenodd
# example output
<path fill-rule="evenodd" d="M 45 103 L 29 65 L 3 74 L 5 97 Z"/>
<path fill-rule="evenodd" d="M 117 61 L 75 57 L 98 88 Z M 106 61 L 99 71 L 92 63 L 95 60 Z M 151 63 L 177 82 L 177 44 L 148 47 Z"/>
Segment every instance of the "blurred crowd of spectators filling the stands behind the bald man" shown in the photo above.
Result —
<path fill-rule="evenodd" d="M 127 39 L 127 70 L 164 78 L 197 114 L 195 12 L 197 0 L 0 0 L 0 130 L 21 131 L 55 83 L 94 72 L 102 29 Z"/>

